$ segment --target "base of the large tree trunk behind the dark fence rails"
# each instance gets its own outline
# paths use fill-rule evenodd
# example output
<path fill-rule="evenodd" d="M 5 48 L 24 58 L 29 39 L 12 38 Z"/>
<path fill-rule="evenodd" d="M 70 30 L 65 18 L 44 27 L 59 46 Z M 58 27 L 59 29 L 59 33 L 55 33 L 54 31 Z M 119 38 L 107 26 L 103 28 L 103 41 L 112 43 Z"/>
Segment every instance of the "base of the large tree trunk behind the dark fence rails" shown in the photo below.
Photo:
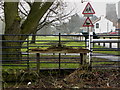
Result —
<path fill-rule="evenodd" d="M 20 42 L 4 42 L 2 43 L 2 62 L 18 63 L 22 60 L 21 43 Z"/>

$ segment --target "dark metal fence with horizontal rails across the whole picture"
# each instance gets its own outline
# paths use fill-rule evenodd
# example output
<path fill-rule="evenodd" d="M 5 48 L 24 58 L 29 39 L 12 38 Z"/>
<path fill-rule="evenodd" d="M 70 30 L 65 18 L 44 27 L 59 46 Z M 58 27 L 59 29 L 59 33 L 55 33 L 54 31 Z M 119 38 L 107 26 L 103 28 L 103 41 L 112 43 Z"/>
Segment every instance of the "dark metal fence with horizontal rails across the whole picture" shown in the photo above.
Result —
<path fill-rule="evenodd" d="M 72 48 L 88 48 L 88 35 L 0 35 L 3 39 L 2 43 L 2 67 L 3 69 L 76 69 L 81 66 L 80 53 L 30 53 L 30 49 L 34 48 L 48 48 L 53 45 L 57 45 L 59 42 L 62 45 Z M 35 43 L 31 43 L 32 36 L 36 36 Z M 120 41 L 119 35 L 97 35 L 99 39 L 91 41 L 91 65 L 93 68 L 120 68 L 119 53 L 120 53 Z M 6 38 L 7 40 L 5 40 Z M 11 38 L 11 39 L 8 39 Z M 24 40 L 18 40 L 18 38 L 25 38 Z M 6 45 L 6 43 L 8 45 Z M 107 45 L 107 46 L 106 46 Z M 114 46 L 115 45 L 115 46 Z M 10 51 L 9 51 L 10 50 Z M 9 52 L 8 52 L 9 51 Z M 99 52 L 110 53 L 115 52 L 118 60 L 106 60 L 103 58 L 103 54 Z M 94 54 L 97 53 L 97 54 Z M 104 54 L 105 57 L 110 56 Z M 97 60 L 96 58 L 101 58 Z M 88 60 L 88 56 L 85 57 Z"/>

